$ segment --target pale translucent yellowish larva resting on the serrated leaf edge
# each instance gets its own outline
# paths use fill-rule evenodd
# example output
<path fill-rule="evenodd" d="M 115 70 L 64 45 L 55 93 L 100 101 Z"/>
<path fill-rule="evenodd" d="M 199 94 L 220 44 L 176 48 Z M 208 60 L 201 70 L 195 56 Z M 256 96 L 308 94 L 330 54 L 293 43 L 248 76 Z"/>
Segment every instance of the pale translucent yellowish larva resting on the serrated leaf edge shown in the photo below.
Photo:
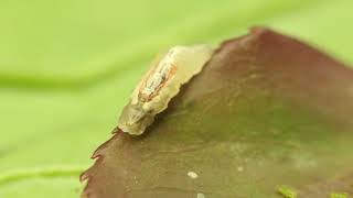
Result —
<path fill-rule="evenodd" d="M 130 134 L 142 134 L 154 116 L 178 95 L 180 87 L 202 70 L 212 54 L 213 48 L 208 45 L 175 46 L 157 57 L 132 91 L 118 128 Z"/>

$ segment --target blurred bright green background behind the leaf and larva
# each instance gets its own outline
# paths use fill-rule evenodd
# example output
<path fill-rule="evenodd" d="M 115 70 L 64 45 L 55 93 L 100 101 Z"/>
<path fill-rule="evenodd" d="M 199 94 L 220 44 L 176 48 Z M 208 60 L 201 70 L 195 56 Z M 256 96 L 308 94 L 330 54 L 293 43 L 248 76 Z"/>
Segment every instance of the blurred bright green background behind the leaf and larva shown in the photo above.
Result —
<path fill-rule="evenodd" d="M 267 25 L 353 64 L 352 0 L 0 0 L 0 197 L 78 197 L 153 55 Z"/>

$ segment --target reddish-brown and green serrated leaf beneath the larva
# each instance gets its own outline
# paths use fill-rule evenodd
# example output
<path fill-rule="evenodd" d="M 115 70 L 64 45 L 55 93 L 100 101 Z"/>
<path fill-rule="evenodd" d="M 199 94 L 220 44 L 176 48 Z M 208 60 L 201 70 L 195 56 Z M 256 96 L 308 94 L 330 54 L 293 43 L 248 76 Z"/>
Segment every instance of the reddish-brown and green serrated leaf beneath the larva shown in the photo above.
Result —
<path fill-rule="evenodd" d="M 279 185 L 298 197 L 351 193 L 352 85 L 346 66 L 254 29 L 224 42 L 142 135 L 117 130 L 99 146 L 84 195 L 276 197 Z"/>

